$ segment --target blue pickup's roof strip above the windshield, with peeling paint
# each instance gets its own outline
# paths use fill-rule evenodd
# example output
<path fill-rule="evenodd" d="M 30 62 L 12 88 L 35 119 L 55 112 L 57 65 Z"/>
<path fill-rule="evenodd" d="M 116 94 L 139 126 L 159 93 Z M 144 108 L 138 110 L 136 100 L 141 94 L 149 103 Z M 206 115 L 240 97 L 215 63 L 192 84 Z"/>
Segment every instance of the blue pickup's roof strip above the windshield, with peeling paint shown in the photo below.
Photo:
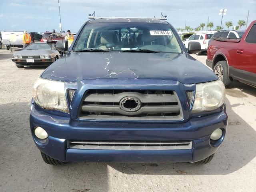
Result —
<path fill-rule="evenodd" d="M 134 22 L 134 23 L 161 23 L 168 24 L 165 20 L 152 18 L 97 18 L 89 20 L 88 23 L 115 23 L 115 22 Z"/>

